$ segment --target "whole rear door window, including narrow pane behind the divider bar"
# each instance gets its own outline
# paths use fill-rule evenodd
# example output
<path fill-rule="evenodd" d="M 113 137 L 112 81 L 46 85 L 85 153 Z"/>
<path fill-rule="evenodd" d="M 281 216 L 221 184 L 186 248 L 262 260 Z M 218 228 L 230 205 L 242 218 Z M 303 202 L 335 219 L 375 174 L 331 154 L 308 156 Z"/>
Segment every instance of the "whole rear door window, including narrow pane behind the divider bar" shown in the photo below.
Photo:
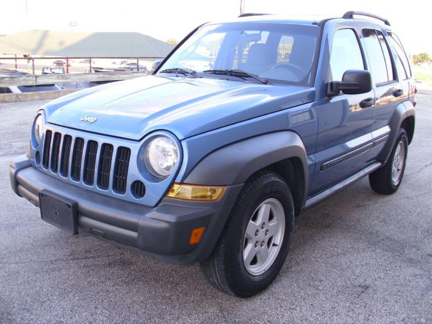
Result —
<path fill-rule="evenodd" d="M 379 85 L 380 83 L 393 81 L 390 55 L 381 32 L 378 34 L 375 29 L 363 29 L 363 40 L 375 83 Z"/>

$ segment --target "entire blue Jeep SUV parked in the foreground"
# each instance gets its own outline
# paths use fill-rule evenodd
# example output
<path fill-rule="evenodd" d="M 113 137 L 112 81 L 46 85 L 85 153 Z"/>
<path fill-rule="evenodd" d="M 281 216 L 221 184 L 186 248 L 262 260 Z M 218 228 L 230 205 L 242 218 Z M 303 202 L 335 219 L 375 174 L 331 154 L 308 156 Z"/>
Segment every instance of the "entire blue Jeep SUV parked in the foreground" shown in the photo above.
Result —
<path fill-rule="evenodd" d="M 401 183 L 416 89 L 386 19 L 245 14 L 155 65 L 38 111 L 10 178 L 43 220 L 199 262 L 248 297 L 280 271 L 295 216 L 366 175 L 380 194 Z"/>

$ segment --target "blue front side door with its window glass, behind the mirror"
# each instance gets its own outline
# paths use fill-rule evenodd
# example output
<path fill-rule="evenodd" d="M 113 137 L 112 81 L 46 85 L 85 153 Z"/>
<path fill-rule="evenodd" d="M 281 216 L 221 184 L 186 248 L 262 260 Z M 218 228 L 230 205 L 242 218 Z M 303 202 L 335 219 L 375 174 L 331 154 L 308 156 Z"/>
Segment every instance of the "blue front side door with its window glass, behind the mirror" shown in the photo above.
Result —
<path fill-rule="evenodd" d="M 334 32 L 327 83 L 341 81 L 346 70 L 365 70 L 365 57 L 354 29 Z M 318 138 L 315 175 L 310 195 L 348 178 L 365 165 L 375 107 L 374 91 L 324 98 L 318 105 Z M 368 102 L 362 108 L 361 102 Z"/>

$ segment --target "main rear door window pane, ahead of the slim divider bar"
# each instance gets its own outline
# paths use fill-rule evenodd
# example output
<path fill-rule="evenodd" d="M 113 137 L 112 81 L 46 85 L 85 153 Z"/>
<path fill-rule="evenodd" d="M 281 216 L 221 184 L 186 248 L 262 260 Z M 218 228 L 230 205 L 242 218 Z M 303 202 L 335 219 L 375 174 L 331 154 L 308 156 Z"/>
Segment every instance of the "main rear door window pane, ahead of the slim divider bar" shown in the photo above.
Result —
<path fill-rule="evenodd" d="M 364 29 L 363 37 L 375 83 L 379 84 L 390 81 L 382 47 L 375 29 Z"/>

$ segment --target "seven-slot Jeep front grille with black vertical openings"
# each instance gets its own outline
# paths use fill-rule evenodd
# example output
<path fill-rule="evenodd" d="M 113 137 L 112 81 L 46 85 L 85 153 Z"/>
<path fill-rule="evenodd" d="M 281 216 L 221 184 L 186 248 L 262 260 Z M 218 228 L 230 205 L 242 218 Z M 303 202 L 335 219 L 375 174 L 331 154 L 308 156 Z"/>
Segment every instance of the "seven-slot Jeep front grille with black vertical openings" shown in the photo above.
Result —
<path fill-rule="evenodd" d="M 74 138 L 69 134 L 64 134 L 62 139 L 62 134 L 55 130 L 46 131 L 43 144 L 41 160 L 45 169 L 65 178 L 70 175 L 74 181 L 89 186 L 96 182 L 97 188 L 104 191 L 107 191 L 111 184 L 114 192 L 126 193 L 130 148 L 114 148 L 110 143 L 99 145 L 95 140 Z M 142 197 L 145 189 L 139 187 L 137 190 L 136 195 Z"/>

